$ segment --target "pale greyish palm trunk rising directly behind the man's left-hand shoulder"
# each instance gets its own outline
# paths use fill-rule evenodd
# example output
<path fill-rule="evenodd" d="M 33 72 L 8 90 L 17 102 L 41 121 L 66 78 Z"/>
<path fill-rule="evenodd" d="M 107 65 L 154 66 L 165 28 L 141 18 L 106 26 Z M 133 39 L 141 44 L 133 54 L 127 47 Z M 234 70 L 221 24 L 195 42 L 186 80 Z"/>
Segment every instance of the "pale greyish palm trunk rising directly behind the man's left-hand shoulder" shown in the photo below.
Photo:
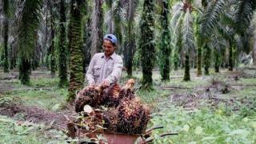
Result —
<path fill-rule="evenodd" d="M 91 23 L 91 45 L 90 45 L 90 55 L 91 57 L 94 54 L 102 50 L 103 42 L 103 10 L 102 10 L 103 0 L 94 0 L 94 9 L 92 14 L 92 23 Z"/>

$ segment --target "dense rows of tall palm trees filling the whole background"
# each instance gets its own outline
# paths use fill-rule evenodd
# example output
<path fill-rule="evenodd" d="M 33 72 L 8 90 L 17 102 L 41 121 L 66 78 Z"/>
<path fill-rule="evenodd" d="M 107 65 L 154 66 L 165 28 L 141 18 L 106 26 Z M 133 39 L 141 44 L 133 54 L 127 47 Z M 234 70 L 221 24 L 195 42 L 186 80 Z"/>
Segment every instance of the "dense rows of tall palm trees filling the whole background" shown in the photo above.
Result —
<path fill-rule="evenodd" d="M 153 85 L 155 67 L 163 81 L 179 67 L 190 81 L 191 67 L 201 76 L 211 66 L 233 70 L 242 54 L 256 62 L 254 0 L 2 0 L 0 7 L 4 72 L 18 68 L 22 84 L 29 85 L 38 66 L 52 76 L 58 70 L 70 102 L 106 33 L 117 35 L 128 77 L 142 68 L 145 89 Z"/>

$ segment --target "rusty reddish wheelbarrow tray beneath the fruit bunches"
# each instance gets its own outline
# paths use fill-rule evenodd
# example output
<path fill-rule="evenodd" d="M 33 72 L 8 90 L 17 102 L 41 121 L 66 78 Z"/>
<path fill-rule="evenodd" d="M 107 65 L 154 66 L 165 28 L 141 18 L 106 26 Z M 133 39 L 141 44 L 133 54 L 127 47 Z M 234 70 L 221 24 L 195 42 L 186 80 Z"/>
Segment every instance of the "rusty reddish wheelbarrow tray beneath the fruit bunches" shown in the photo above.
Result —
<path fill-rule="evenodd" d="M 121 134 L 121 133 L 108 133 L 104 131 L 88 131 L 78 130 L 78 137 L 97 138 L 97 135 L 102 134 L 106 138 L 107 143 L 110 144 L 134 144 L 136 140 L 141 136 L 139 134 Z"/>

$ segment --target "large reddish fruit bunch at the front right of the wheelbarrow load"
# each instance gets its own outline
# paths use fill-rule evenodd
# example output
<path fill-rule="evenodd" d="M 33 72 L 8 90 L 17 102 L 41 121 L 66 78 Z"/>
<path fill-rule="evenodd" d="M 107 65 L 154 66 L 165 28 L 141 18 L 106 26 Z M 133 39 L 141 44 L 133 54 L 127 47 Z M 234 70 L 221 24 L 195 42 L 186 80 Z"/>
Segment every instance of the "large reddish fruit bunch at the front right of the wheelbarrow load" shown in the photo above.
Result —
<path fill-rule="evenodd" d="M 143 114 L 144 110 L 139 98 L 123 98 L 118 106 L 117 132 L 139 134 L 140 132 L 135 130 L 141 125 Z"/>

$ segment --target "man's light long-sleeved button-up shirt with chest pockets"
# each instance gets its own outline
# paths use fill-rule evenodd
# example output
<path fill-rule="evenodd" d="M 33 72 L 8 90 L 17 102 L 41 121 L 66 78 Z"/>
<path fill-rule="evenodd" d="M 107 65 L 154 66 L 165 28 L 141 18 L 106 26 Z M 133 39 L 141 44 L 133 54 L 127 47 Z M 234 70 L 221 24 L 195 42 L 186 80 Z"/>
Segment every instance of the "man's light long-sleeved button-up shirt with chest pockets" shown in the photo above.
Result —
<path fill-rule="evenodd" d="M 100 84 L 104 79 L 108 82 L 118 82 L 122 74 L 122 58 L 118 54 L 112 54 L 106 58 L 104 53 L 94 54 L 86 72 L 86 78 L 90 85 Z"/>

